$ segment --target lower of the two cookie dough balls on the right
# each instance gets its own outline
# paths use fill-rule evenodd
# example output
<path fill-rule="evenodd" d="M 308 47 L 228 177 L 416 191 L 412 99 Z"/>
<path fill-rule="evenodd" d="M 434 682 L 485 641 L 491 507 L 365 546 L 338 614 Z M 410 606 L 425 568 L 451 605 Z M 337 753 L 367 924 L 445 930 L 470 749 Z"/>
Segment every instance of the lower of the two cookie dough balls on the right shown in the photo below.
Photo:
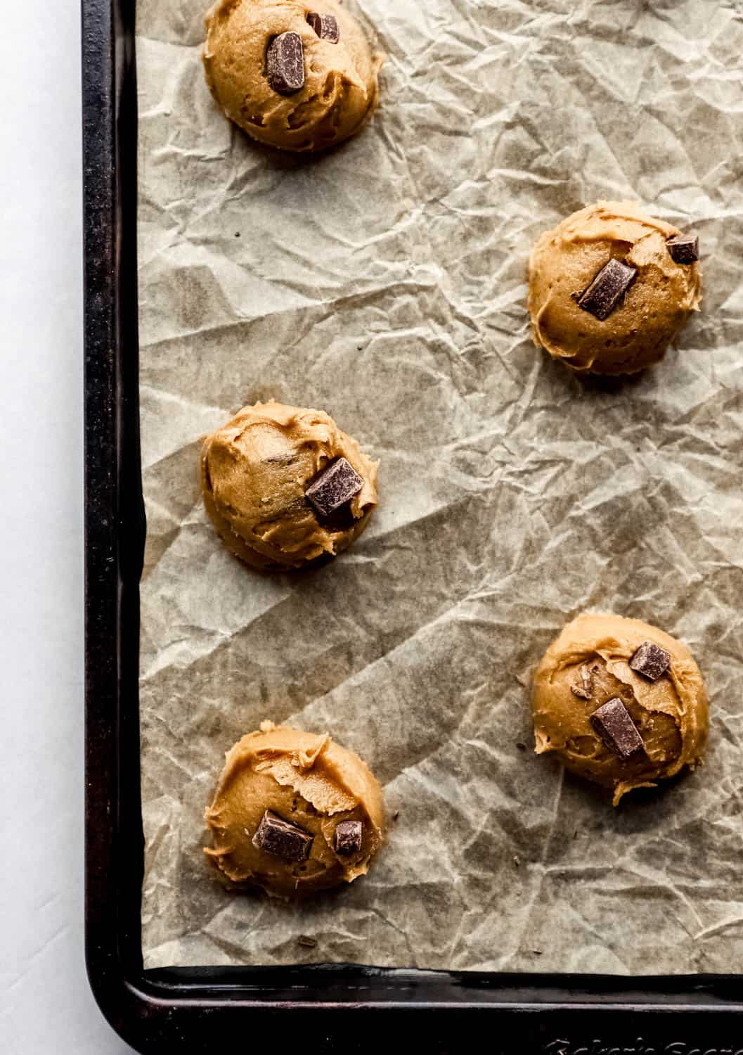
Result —
<path fill-rule="evenodd" d="M 653 787 L 701 761 L 707 693 L 688 649 L 621 615 L 580 615 L 545 652 L 532 687 L 536 753 L 613 791 Z"/>

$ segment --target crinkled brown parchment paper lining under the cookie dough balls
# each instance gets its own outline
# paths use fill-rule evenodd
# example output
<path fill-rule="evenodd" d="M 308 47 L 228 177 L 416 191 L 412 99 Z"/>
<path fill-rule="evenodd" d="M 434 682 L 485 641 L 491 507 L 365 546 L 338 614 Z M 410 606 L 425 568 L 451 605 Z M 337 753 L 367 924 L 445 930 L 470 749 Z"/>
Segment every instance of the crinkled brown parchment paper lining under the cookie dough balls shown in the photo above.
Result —
<path fill-rule="evenodd" d="M 204 4 L 138 4 L 145 964 L 740 970 L 743 3 L 353 0 L 382 108 L 315 159 L 218 113 Z M 533 239 L 600 197 L 697 227 L 705 277 L 678 350 L 603 384 L 525 308 Z M 382 504 L 332 564 L 261 578 L 197 460 L 272 396 L 379 458 Z M 712 698 L 707 765 L 617 810 L 531 751 L 530 673 L 586 609 L 682 637 Z M 202 861 L 262 718 L 329 730 L 399 811 L 302 907 Z"/>

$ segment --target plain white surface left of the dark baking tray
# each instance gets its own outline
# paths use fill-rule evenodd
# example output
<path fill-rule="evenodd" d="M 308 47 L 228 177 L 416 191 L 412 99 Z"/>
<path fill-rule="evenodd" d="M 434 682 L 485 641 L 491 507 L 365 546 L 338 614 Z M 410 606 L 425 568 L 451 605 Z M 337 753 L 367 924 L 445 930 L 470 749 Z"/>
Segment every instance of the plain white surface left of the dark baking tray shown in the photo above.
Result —
<path fill-rule="evenodd" d="M 0 1051 L 120 1055 L 83 959 L 79 0 L 2 15 Z"/>

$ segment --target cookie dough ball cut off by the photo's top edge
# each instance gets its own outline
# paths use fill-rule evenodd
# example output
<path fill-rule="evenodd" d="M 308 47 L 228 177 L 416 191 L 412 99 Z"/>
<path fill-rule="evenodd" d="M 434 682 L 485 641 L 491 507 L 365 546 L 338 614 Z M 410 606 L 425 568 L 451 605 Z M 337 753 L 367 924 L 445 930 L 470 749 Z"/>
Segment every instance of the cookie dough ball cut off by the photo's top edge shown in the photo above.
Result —
<path fill-rule="evenodd" d="M 357 132 L 374 109 L 383 56 L 335 0 L 217 0 L 206 23 L 212 95 L 254 139 L 325 150 Z"/>

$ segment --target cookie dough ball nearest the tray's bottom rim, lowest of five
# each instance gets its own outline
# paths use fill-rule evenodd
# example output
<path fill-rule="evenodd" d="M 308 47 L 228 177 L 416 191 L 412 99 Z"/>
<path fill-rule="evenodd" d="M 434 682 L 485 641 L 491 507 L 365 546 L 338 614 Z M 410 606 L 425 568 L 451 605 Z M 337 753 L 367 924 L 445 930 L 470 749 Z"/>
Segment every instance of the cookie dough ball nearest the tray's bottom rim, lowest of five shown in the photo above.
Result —
<path fill-rule="evenodd" d="M 358 755 L 271 722 L 228 751 L 206 820 L 221 878 L 280 898 L 353 882 L 384 839 L 382 789 Z"/>

